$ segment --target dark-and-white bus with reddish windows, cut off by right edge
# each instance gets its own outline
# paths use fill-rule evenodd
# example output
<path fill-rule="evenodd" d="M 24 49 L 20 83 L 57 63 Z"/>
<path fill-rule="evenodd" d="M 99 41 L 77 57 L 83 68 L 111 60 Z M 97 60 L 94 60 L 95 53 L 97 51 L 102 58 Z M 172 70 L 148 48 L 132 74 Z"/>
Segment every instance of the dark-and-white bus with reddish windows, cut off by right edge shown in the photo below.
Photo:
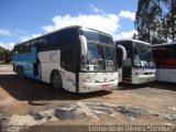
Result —
<path fill-rule="evenodd" d="M 152 46 L 156 64 L 156 80 L 176 82 L 176 42 Z"/>

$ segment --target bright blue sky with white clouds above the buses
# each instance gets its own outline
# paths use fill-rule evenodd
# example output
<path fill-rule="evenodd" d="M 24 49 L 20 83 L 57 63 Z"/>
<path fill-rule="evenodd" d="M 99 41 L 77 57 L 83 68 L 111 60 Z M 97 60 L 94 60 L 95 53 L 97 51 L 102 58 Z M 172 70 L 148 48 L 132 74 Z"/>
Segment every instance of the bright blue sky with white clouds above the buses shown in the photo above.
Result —
<path fill-rule="evenodd" d="M 0 46 L 15 43 L 68 25 L 84 25 L 131 38 L 138 0 L 0 0 Z"/>

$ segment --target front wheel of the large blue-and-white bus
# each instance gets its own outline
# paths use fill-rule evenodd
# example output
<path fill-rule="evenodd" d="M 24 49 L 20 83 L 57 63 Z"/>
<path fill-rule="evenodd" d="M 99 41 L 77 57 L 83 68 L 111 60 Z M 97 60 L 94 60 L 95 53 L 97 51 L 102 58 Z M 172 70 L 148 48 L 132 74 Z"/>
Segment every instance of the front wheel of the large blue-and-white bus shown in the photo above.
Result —
<path fill-rule="evenodd" d="M 52 74 L 52 78 L 51 78 L 51 82 L 54 87 L 55 90 L 61 90 L 62 89 L 62 79 L 61 79 L 61 75 L 58 72 L 54 72 Z"/>

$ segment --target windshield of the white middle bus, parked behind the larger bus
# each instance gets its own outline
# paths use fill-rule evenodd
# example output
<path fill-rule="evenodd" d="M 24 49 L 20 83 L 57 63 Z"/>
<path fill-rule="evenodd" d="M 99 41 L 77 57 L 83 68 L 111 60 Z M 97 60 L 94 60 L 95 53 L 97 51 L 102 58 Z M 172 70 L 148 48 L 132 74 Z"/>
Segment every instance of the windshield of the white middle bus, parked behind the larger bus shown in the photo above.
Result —
<path fill-rule="evenodd" d="M 151 45 L 135 43 L 134 66 L 154 67 Z"/>

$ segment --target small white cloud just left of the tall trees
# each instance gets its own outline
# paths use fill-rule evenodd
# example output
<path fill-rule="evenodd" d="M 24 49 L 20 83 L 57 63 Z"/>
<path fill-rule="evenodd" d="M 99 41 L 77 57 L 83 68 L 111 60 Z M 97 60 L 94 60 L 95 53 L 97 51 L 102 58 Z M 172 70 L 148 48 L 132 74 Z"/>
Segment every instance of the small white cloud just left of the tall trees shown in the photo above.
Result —
<path fill-rule="evenodd" d="M 123 11 L 123 10 L 121 10 L 120 13 L 119 13 L 119 16 L 120 18 L 124 18 L 124 19 L 130 19 L 132 21 L 135 20 L 135 13 L 131 12 L 131 11 Z"/>

